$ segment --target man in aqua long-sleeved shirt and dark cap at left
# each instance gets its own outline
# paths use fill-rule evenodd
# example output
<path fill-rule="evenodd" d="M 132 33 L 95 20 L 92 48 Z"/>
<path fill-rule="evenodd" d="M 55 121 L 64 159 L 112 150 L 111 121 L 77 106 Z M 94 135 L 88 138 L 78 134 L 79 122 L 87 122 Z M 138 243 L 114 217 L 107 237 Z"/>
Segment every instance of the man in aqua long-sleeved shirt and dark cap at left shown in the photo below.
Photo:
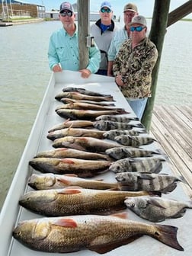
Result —
<path fill-rule="evenodd" d="M 69 2 L 60 5 L 59 20 L 63 27 L 53 32 L 50 37 L 48 59 L 50 69 L 53 72 L 61 72 L 62 69 L 78 71 L 78 32 L 75 25 L 75 13 Z M 98 46 L 89 48 L 89 61 L 86 69 L 79 70 L 83 78 L 88 78 L 91 73 L 98 71 L 101 61 L 101 53 Z"/>

